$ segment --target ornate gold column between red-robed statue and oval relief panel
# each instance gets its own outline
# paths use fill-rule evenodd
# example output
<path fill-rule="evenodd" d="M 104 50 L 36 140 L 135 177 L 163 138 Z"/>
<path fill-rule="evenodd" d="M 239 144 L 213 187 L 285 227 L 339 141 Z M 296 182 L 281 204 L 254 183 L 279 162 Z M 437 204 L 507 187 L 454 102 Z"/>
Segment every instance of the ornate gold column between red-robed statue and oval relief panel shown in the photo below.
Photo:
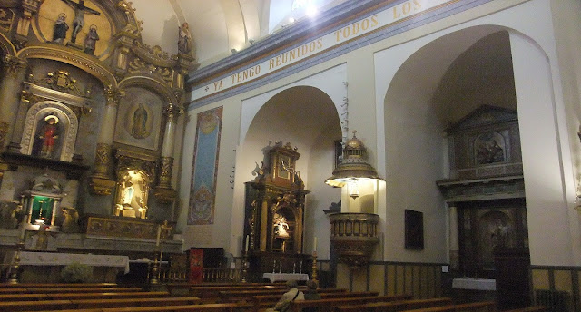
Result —
<path fill-rule="evenodd" d="M 89 183 L 91 191 L 97 195 L 111 194 L 115 180 L 111 178 L 113 168 L 113 135 L 117 120 L 117 106 L 125 93 L 111 86 L 105 89 L 107 103 L 101 131 L 97 138 L 97 149 L 94 157 L 94 169 Z"/>

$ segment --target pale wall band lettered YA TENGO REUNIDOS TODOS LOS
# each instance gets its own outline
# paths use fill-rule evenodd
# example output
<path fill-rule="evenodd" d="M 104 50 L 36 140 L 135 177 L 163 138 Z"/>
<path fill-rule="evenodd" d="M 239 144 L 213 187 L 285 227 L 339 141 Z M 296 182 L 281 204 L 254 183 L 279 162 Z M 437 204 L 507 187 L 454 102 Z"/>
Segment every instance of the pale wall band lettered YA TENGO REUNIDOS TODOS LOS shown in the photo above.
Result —
<path fill-rule="evenodd" d="M 226 89 L 248 83 L 269 73 L 274 73 L 281 68 L 293 63 L 298 63 L 315 54 L 320 54 L 340 44 L 359 38 L 362 35 L 377 31 L 380 28 L 408 20 L 414 15 L 427 13 L 438 9 L 442 5 L 458 2 L 458 0 L 409 0 L 397 5 L 392 5 L 375 15 L 363 18 L 353 24 L 349 24 L 329 34 L 324 34 L 306 44 L 294 47 L 278 54 L 271 59 L 258 63 L 237 73 L 232 73 L 220 80 L 202 85 L 192 91 L 191 101 L 219 93 Z"/>

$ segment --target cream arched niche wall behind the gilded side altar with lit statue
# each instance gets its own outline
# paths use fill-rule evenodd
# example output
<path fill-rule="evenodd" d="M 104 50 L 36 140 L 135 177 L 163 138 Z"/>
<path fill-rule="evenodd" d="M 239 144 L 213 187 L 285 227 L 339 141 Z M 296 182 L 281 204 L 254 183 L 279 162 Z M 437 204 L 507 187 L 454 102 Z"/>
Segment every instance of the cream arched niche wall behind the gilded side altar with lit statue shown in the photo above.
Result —
<path fill-rule="evenodd" d="M 329 235 L 330 225 L 323 210 L 329 209 L 331 202 L 340 200 L 340 190 L 324 183 L 333 171 L 335 144 L 340 140 L 339 113 L 330 95 L 318 88 L 296 86 L 275 94 L 261 105 L 238 149 L 236 171 L 237 180 L 241 181 L 254 179 L 251 171 L 261 167 L 264 149 L 276 141 L 289 142 L 300 153 L 295 170 L 304 181 L 305 190 L 310 190 L 301 218 L 304 220 L 302 250 L 305 253 L 312 250 L 311 238 Z M 240 220 L 232 219 L 232 222 Z M 323 253 L 329 252 L 323 251 L 329 248 L 328 244 L 325 247 L 323 242 L 320 247 Z"/>

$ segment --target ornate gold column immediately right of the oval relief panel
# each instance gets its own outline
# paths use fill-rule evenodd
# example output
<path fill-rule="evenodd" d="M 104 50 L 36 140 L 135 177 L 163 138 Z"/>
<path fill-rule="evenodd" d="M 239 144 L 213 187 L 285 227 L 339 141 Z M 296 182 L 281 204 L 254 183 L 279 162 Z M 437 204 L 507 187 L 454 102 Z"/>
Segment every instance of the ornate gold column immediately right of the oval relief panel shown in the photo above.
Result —
<path fill-rule="evenodd" d="M 176 192 L 172 188 L 173 142 L 175 141 L 175 124 L 183 113 L 181 107 L 169 103 L 163 114 L 166 117 L 163 134 L 162 157 L 160 158 L 160 180 L 155 188 L 155 197 L 163 202 L 172 202 Z"/>

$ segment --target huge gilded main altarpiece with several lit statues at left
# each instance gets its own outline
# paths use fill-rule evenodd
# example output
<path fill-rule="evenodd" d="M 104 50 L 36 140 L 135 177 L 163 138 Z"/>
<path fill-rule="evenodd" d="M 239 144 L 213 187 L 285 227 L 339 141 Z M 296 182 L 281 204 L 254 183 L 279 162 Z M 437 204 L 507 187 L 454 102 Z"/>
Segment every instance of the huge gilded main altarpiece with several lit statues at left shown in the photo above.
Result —
<path fill-rule="evenodd" d="M 124 0 L 0 2 L 0 207 L 15 214 L 2 241 L 15 245 L 43 218 L 67 229 L 58 248 L 148 251 L 158 229 L 172 240 L 173 146 L 196 64 L 192 51 L 143 44 L 141 23 Z M 62 200 L 6 204 L 39 198 L 27 184 L 40 174 L 61 182 Z M 66 239 L 79 225 L 86 236 Z"/>

